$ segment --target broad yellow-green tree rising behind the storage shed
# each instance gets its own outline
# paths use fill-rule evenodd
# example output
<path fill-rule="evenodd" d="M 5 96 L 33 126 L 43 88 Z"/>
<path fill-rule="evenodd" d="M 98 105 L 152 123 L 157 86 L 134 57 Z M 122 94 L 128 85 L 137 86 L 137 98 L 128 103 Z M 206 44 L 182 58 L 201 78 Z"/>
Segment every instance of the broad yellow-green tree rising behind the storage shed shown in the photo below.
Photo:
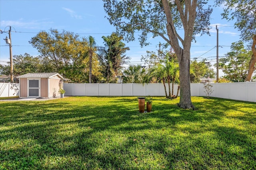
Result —
<path fill-rule="evenodd" d="M 32 37 L 30 43 L 39 51 L 40 57 L 48 59 L 57 70 L 62 70 L 81 57 L 81 50 L 84 48 L 81 48 L 82 44 L 78 37 L 68 31 L 60 33 L 56 29 L 50 29 L 50 33 L 41 31 Z"/>

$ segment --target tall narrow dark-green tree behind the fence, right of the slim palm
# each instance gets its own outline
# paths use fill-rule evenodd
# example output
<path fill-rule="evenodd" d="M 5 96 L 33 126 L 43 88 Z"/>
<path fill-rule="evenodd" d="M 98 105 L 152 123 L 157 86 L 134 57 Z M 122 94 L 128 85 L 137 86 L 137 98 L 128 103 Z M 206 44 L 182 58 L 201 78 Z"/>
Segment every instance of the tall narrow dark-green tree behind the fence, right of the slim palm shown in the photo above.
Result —
<path fill-rule="evenodd" d="M 130 49 L 125 47 L 122 42 L 123 38 L 116 33 L 112 33 L 107 37 L 102 36 L 102 38 L 105 42 L 104 53 L 100 57 L 103 66 L 102 72 L 106 82 L 116 82 L 116 76 L 121 73 L 122 65 L 130 59 L 125 55 L 126 51 Z"/>

